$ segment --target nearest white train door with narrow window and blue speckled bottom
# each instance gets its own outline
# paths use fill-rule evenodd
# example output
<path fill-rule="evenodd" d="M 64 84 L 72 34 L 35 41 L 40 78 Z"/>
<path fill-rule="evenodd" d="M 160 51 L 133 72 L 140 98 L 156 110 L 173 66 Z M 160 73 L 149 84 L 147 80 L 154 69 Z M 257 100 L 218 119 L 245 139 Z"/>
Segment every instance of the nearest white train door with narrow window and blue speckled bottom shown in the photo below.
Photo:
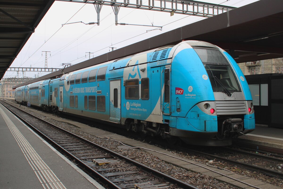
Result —
<path fill-rule="evenodd" d="M 121 80 L 110 81 L 110 121 L 121 120 Z"/>

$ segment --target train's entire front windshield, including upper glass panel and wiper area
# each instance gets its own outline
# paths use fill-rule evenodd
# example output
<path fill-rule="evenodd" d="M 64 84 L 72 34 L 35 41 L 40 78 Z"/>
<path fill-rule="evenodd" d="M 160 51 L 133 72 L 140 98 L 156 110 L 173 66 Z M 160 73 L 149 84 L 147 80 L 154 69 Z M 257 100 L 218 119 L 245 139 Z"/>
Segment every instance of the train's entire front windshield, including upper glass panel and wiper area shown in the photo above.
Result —
<path fill-rule="evenodd" d="M 211 82 L 213 92 L 239 92 L 239 84 L 230 64 L 218 49 L 194 48 Z"/>

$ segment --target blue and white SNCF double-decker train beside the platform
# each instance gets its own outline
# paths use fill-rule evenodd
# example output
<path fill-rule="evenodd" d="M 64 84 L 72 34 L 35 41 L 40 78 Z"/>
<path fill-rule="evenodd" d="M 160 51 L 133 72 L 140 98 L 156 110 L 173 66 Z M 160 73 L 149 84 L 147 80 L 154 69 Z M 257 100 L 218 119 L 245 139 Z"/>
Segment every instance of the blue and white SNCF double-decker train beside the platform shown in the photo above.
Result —
<path fill-rule="evenodd" d="M 231 56 L 183 41 L 16 88 L 15 101 L 194 145 L 230 145 L 255 129 L 252 96 Z"/>

